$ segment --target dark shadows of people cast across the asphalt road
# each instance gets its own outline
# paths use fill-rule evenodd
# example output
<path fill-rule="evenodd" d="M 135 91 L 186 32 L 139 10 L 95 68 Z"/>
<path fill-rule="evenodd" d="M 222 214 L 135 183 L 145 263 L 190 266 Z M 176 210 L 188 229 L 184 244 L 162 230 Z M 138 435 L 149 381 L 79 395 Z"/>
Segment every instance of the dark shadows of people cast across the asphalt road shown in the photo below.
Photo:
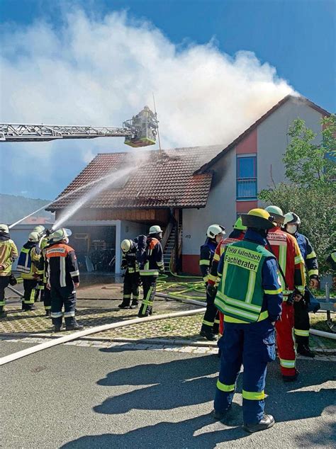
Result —
<path fill-rule="evenodd" d="M 102 351 L 112 352 L 113 349 L 115 348 Z M 277 423 L 335 413 L 335 390 L 323 387 L 324 382 L 335 379 L 333 363 L 299 360 L 298 368 L 301 370 L 299 380 L 284 384 L 278 363 L 269 365 L 266 411 L 274 415 Z M 245 438 L 248 434 L 242 430 L 242 413 L 238 404 L 234 404 L 225 425 L 215 424 L 215 429 L 205 433 L 198 431 L 215 422 L 210 415 L 211 405 L 209 414 L 196 418 L 177 423 L 162 421 L 155 425 L 145 425 L 147 410 L 157 410 L 159 414 L 160 410 L 192 405 L 197 407 L 198 404 L 212 401 L 217 370 L 218 358 L 199 356 L 167 363 L 136 365 L 108 373 L 97 382 L 99 385 L 138 385 L 139 388 L 108 397 L 102 404 L 96 405 L 94 411 L 116 415 L 131 409 L 143 410 L 144 426 L 123 434 L 84 436 L 62 448 L 215 448 L 218 443 Z M 317 387 L 319 385 L 320 388 Z M 242 392 L 242 375 L 238 379 L 237 392 Z M 303 438 L 300 436 L 298 446 L 302 447 L 303 440 L 307 445 L 315 443 L 327 447 L 332 446 L 335 441 L 332 428 L 328 426 L 323 431 L 319 429 L 318 434 L 312 428 L 311 435 Z"/>

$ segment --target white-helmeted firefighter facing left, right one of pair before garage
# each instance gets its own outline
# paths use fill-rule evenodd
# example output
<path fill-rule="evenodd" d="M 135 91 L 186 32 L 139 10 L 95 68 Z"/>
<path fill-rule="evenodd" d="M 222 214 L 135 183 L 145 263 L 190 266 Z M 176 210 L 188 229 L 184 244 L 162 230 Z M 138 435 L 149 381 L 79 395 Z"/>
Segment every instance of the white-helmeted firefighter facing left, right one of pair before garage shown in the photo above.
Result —
<path fill-rule="evenodd" d="M 139 236 L 141 237 L 141 236 Z M 159 274 L 164 273 L 162 229 L 158 225 L 150 227 L 150 232 L 145 241 L 138 237 L 138 252 L 142 254 L 138 258 L 140 277 L 142 281 L 143 299 L 138 317 L 148 317 L 152 314 L 153 301 Z"/>

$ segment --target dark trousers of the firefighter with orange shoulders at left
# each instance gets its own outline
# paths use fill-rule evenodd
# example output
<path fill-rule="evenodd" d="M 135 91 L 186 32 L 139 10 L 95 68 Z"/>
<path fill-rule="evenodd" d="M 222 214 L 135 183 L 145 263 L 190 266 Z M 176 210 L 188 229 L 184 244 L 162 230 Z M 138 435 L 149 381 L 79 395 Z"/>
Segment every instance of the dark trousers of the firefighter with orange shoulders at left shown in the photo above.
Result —
<path fill-rule="evenodd" d="M 62 307 L 64 306 L 65 325 L 72 326 L 75 322 L 74 309 L 76 308 L 74 285 L 67 285 L 67 287 L 51 286 L 50 295 L 52 324 L 56 327 L 62 326 Z"/>

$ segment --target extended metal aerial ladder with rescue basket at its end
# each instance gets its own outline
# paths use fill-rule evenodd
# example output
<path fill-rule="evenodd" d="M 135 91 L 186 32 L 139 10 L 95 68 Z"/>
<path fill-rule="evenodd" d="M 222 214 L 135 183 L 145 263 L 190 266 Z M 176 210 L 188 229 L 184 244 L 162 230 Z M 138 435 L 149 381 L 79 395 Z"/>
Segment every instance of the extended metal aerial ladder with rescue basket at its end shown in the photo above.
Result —
<path fill-rule="evenodd" d="M 0 123 L 0 143 L 125 137 L 125 144 L 130 147 L 147 147 L 155 144 L 157 128 L 157 114 L 145 106 L 122 127 Z"/>

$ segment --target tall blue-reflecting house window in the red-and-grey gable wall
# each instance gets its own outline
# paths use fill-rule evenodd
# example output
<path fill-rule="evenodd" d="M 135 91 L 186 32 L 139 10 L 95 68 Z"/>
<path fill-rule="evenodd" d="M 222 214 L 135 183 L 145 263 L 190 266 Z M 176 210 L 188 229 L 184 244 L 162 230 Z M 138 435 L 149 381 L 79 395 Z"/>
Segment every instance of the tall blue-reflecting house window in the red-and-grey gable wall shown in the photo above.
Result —
<path fill-rule="evenodd" d="M 257 156 L 237 156 L 237 200 L 257 199 Z"/>

